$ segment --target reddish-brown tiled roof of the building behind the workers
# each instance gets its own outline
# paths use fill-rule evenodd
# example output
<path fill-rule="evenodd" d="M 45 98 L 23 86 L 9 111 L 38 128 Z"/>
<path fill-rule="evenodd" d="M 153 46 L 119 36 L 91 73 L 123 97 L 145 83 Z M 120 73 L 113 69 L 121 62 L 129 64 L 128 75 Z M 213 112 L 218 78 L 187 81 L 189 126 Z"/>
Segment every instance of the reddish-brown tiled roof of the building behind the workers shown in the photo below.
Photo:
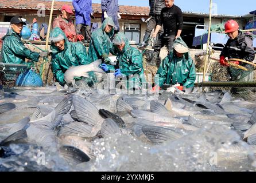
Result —
<path fill-rule="evenodd" d="M 38 0 L 0 0 L 0 8 L 1 7 L 9 7 L 9 8 L 17 8 L 17 9 L 39 9 L 43 3 L 45 5 L 45 9 L 51 9 L 52 1 L 38 1 Z M 55 1 L 54 9 L 60 10 L 61 6 L 64 4 L 68 4 L 73 8 L 72 2 L 66 1 Z M 100 4 L 92 3 L 92 9 L 95 13 L 101 13 Z M 140 6 L 119 6 L 119 10 L 121 14 L 141 14 L 148 15 L 149 7 L 140 7 Z"/>

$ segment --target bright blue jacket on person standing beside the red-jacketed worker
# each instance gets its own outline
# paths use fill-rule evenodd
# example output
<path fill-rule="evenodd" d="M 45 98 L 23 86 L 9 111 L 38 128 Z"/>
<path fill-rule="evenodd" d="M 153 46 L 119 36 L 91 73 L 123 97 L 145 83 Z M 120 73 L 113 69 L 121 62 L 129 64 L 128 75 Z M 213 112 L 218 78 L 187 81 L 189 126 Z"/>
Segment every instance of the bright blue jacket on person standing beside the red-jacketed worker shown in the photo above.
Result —
<path fill-rule="evenodd" d="M 75 9 L 76 25 L 84 23 L 91 25 L 92 1 L 91 0 L 73 0 Z"/>

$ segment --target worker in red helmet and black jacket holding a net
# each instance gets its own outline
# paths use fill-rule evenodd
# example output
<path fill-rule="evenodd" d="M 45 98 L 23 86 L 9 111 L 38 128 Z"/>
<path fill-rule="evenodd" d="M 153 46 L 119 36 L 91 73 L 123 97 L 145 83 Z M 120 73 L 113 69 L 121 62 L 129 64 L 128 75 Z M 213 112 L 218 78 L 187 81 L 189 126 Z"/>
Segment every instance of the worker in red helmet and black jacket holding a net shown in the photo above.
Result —
<path fill-rule="evenodd" d="M 230 66 L 226 59 L 238 58 L 253 62 L 255 58 L 253 37 L 251 37 L 251 35 L 242 34 L 242 32 L 239 31 L 238 23 L 232 19 L 226 22 L 225 32 L 229 39 L 222 50 L 222 53 L 220 53 L 220 65 L 228 66 L 228 74 L 231 77 L 231 81 L 253 81 L 253 69 L 251 69 L 251 65 L 244 62 L 232 61 L 235 64 L 246 67 L 249 71 L 236 69 L 235 67 Z M 241 92 L 245 91 L 239 88 L 231 89 L 231 93 L 233 94 L 239 94 Z"/>

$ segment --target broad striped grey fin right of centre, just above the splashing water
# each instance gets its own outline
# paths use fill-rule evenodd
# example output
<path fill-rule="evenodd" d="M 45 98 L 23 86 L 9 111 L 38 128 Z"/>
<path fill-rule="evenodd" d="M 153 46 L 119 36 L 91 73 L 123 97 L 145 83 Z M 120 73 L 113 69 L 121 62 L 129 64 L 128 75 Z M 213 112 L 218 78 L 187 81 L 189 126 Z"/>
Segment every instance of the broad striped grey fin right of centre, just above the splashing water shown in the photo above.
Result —
<path fill-rule="evenodd" d="M 181 137 L 180 134 L 160 126 L 143 126 L 142 132 L 154 144 L 162 144 L 165 141 L 177 140 Z"/>

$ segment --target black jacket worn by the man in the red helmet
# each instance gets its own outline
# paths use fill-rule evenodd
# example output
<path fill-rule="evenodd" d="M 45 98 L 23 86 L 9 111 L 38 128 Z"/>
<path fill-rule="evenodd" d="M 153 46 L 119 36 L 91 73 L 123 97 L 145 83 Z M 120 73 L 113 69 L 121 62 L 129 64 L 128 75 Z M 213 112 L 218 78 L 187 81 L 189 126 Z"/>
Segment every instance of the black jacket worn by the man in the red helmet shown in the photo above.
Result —
<path fill-rule="evenodd" d="M 255 53 L 253 39 L 250 35 L 242 34 L 242 32 L 239 31 L 238 37 L 235 39 L 228 39 L 220 56 L 222 55 L 228 58 L 244 59 L 249 62 L 254 61 Z"/>

